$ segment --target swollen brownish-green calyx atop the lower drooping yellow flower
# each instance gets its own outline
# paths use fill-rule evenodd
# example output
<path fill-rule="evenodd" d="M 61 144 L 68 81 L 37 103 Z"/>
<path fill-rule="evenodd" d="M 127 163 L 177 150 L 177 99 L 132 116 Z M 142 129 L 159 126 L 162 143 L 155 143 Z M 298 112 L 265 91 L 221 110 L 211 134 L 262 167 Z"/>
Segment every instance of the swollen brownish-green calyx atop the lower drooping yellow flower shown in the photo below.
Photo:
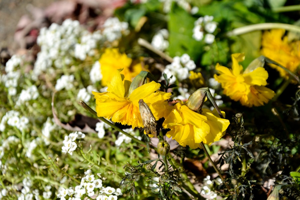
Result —
<path fill-rule="evenodd" d="M 189 109 L 201 113 L 201 108 L 206 100 L 206 90 L 200 88 L 190 95 L 186 105 L 189 107 Z"/>

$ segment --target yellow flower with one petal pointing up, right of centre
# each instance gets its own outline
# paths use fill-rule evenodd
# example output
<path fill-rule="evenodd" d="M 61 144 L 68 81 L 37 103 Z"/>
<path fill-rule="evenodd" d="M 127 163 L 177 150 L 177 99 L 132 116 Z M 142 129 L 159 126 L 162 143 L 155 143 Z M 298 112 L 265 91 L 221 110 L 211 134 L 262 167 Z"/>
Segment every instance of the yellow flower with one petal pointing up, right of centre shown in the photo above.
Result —
<path fill-rule="evenodd" d="M 235 101 L 240 101 L 242 105 L 262 106 L 274 97 L 275 93 L 266 88 L 268 72 L 263 67 L 257 67 L 253 71 L 244 72 L 243 67 L 238 62 L 243 61 L 244 54 L 235 53 L 231 55 L 232 69 L 216 65 L 216 70 L 220 74 L 214 75 L 217 82 L 221 83 L 223 93 Z"/>

